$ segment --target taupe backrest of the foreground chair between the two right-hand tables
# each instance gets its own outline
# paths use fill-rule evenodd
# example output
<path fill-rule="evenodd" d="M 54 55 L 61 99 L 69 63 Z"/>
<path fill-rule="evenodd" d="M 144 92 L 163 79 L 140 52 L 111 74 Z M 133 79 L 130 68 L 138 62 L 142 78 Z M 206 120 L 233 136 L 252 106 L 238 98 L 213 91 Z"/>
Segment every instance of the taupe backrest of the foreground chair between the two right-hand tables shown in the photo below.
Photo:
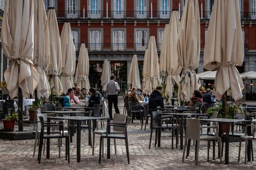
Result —
<path fill-rule="evenodd" d="M 186 119 L 186 139 L 200 140 L 199 119 Z"/>

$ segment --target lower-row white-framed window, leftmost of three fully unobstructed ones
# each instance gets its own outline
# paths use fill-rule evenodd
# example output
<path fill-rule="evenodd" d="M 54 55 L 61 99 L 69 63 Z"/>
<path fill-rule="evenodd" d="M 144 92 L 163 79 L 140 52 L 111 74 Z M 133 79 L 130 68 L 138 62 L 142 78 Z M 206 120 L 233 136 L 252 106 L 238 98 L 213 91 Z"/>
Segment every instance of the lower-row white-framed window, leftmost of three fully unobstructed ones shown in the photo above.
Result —
<path fill-rule="evenodd" d="M 101 51 L 101 30 L 89 30 L 89 50 Z"/>

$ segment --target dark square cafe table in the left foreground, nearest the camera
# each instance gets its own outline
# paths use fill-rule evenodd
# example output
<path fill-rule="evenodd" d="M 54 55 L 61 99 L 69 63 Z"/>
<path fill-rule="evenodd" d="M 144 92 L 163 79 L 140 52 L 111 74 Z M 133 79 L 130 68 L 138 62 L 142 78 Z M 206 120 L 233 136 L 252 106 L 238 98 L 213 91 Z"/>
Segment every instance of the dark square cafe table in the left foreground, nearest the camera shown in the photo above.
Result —
<path fill-rule="evenodd" d="M 48 117 L 47 121 L 50 122 L 51 119 L 64 119 L 69 121 L 75 121 L 77 123 L 77 162 L 80 162 L 80 152 L 81 152 L 81 123 L 82 121 L 92 121 L 92 120 L 103 120 L 109 118 L 100 118 L 100 117 L 92 117 L 92 116 L 61 116 L 61 117 Z M 47 133 L 49 134 L 50 128 L 47 127 Z M 110 141 L 108 140 L 108 145 L 110 145 Z M 110 155 L 110 147 L 108 147 L 108 156 Z M 46 158 L 49 159 L 49 139 L 47 139 L 46 144 Z"/>

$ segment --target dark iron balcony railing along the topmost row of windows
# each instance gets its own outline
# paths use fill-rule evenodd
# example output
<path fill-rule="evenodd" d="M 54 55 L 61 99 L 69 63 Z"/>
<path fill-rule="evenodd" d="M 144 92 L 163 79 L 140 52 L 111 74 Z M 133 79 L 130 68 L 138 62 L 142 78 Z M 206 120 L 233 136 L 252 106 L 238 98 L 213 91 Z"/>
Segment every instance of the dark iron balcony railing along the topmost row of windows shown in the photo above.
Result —
<path fill-rule="evenodd" d="M 56 14 L 59 19 L 88 19 L 88 18 L 106 18 L 109 19 L 122 19 L 122 18 L 138 18 L 138 19 L 163 19 L 169 20 L 171 11 L 148 11 L 148 10 L 58 10 Z M 240 12 L 241 20 L 256 20 L 255 12 Z M 182 11 L 180 12 L 180 17 L 182 16 Z M 211 16 L 211 11 L 200 12 L 200 18 L 202 20 L 209 20 Z"/>

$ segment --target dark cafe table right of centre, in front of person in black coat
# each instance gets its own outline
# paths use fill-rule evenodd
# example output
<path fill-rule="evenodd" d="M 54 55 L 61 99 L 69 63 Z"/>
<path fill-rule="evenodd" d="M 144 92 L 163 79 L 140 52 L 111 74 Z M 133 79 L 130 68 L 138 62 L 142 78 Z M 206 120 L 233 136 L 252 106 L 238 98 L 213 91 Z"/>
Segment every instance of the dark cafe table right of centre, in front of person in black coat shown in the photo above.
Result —
<path fill-rule="evenodd" d="M 180 131 L 180 141 L 181 141 L 181 150 L 183 149 L 183 133 L 184 133 L 184 119 L 187 116 L 195 116 L 198 118 L 199 116 L 207 116 L 210 117 L 209 114 L 202 114 L 202 113 L 170 113 L 168 111 L 160 112 L 159 115 L 172 115 L 176 116 L 176 118 L 181 118 L 181 131 Z M 161 143 L 161 129 L 158 131 L 158 147 L 160 147 Z"/>

